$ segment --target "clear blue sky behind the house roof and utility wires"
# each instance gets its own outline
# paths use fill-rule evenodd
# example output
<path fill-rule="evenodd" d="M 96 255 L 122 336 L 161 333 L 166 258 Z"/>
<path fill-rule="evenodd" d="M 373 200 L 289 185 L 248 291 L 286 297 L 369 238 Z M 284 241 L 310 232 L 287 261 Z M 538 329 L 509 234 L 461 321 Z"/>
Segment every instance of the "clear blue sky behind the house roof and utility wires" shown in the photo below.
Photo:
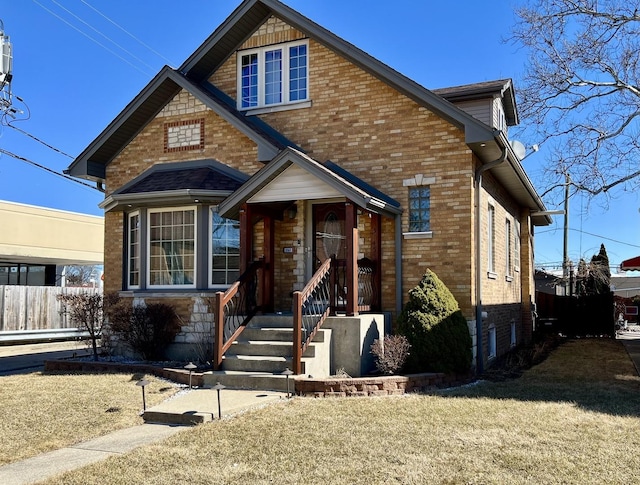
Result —
<path fill-rule="evenodd" d="M 14 106 L 24 111 L 18 118 L 30 114 L 14 126 L 78 155 L 163 65 L 179 66 L 239 3 L 4 2 L 0 20 L 13 44 L 12 91 L 25 102 L 16 101 Z M 525 54 L 503 42 L 513 25 L 517 0 L 285 3 L 427 88 L 513 78 L 517 92 Z M 536 143 L 521 141 L 527 146 Z M 71 162 L 9 127 L 0 127 L 0 149 L 56 171 Z M 540 191 L 544 187 L 540 166 L 547 156 L 543 147 L 523 162 Z M 1 200 L 101 215 L 102 197 L 93 189 L 0 155 Z M 549 209 L 561 209 L 546 202 Z M 559 267 L 563 255 L 563 216 L 553 219 L 536 235 L 536 263 L 548 269 Z M 617 265 L 640 255 L 640 198 L 618 194 L 605 209 L 599 204 L 588 207 L 586 199 L 576 197 L 571 201 L 569 228 L 571 259 L 590 259 L 604 243 L 611 264 Z"/>

